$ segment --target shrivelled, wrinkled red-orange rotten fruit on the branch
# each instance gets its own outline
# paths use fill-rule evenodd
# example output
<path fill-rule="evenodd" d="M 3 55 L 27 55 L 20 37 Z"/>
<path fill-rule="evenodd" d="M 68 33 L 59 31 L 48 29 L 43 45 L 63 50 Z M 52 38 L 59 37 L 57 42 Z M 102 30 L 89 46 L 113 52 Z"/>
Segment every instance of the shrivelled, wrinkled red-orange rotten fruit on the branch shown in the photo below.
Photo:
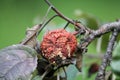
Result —
<path fill-rule="evenodd" d="M 55 57 L 62 60 L 70 58 L 77 46 L 76 37 L 64 29 L 57 29 L 48 32 L 40 45 L 42 55 L 50 62 L 55 62 Z"/>

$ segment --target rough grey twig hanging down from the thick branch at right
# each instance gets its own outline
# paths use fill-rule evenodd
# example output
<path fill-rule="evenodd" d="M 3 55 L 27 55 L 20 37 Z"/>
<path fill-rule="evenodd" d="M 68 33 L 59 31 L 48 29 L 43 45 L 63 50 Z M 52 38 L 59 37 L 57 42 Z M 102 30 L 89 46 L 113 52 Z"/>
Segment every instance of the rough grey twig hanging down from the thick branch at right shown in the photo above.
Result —
<path fill-rule="evenodd" d="M 96 80 L 105 80 L 105 70 L 107 65 L 109 65 L 110 61 L 112 60 L 112 51 L 113 51 L 114 43 L 116 41 L 117 36 L 118 36 L 118 31 L 114 29 L 112 36 L 110 38 L 110 41 L 108 43 L 106 54 L 104 55 L 102 64 L 96 76 Z"/>

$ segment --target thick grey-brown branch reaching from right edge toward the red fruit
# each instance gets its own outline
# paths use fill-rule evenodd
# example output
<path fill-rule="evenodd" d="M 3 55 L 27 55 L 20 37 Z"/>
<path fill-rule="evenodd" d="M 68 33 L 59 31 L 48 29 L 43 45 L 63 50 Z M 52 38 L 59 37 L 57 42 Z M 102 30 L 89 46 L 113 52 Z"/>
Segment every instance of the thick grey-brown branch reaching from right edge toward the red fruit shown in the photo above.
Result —
<path fill-rule="evenodd" d="M 78 48 L 86 48 L 94 39 L 112 31 L 113 29 L 117 29 L 118 32 L 120 31 L 120 21 L 104 24 L 98 30 L 91 30 L 91 34 L 84 38 L 83 42 L 78 45 Z"/>

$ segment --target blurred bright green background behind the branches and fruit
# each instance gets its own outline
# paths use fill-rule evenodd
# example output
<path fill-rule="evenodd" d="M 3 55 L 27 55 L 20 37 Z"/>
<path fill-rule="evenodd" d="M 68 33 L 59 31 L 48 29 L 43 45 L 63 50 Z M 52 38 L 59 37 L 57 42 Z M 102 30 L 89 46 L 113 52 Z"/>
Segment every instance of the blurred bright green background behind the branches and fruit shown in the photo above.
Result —
<path fill-rule="evenodd" d="M 87 16 L 87 19 L 90 21 L 96 21 L 93 24 L 90 22 L 91 25 L 87 25 L 94 29 L 98 25 L 120 18 L 120 0 L 50 0 L 50 2 L 71 19 L 79 20 L 81 18 L 81 22 L 85 22 L 84 18 Z M 0 49 L 21 42 L 25 38 L 27 27 L 32 27 L 42 22 L 47 8 L 48 5 L 44 0 L 0 0 Z M 54 15 L 53 11 L 49 13 L 48 18 L 52 15 Z M 85 23 L 87 24 L 88 22 Z M 56 18 L 46 29 L 54 29 L 56 26 L 56 28 L 58 26 L 63 27 L 64 24 L 64 20 Z M 39 39 L 42 38 L 39 37 Z M 108 40 L 105 41 L 108 42 Z M 95 45 L 90 45 L 89 53 L 96 53 Z M 91 61 L 89 59 L 85 60 L 84 64 L 87 64 L 87 67 L 83 67 L 83 69 L 86 72 L 89 64 L 98 62 L 97 59 Z M 87 74 L 84 72 L 83 75 L 85 76 L 81 77 L 79 75 L 78 73 L 75 78 L 76 80 L 81 78 L 82 80 L 93 80 L 95 77 L 86 79 Z"/>

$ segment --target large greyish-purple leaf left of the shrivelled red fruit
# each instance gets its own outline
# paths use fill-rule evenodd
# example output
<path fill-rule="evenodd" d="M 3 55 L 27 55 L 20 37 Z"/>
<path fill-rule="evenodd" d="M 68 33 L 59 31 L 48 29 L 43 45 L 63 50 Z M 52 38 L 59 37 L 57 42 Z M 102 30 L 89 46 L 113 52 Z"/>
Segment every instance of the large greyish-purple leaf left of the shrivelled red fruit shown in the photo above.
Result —
<path fill-rule="evenodd" d="M 30 80 L 37 66 L 36 51 L 25 45 L 0 50 L 0 80 Z"/>

